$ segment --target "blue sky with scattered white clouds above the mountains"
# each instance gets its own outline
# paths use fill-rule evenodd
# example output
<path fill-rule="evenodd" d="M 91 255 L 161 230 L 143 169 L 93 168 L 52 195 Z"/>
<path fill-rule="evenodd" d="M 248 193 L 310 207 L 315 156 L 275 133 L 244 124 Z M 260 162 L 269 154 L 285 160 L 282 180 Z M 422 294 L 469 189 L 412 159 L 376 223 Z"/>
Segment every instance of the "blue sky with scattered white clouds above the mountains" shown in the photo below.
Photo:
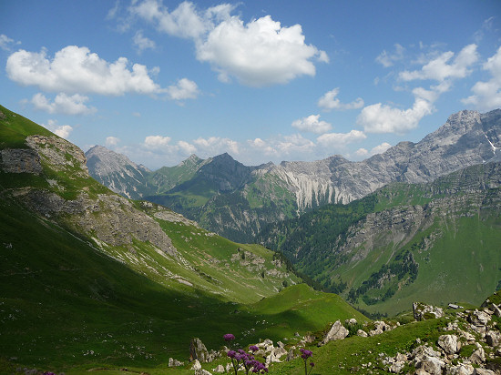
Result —
<path fill-rule="evenodd" d="M 153 170 L 363 160 L 501 107 L 501 1 L 0 0 L 0 104 Z"/>

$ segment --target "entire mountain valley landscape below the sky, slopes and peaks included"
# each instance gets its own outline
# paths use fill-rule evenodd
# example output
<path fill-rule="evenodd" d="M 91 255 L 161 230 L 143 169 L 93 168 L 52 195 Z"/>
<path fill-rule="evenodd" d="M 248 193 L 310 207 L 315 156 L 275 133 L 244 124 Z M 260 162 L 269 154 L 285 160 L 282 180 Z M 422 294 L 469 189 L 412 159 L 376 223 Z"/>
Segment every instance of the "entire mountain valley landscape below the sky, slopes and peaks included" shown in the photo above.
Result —
<path fill-rule="evenodd" d="M 358 163 L 155 172 L 0 112 L 0 372 L 215 373 L 228 333 L 276 374 L 303 373 L 300 348 L 312 374 L 499 371 L 500 110 Z M 416 301 L 444 313 L 414 321 Z"/>

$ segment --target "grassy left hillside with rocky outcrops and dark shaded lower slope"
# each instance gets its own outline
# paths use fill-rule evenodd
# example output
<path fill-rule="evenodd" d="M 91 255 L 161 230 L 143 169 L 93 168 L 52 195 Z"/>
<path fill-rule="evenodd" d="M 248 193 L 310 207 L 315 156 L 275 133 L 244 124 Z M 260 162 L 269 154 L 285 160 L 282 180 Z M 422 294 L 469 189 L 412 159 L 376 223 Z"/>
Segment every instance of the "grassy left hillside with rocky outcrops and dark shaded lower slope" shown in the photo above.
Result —
<path fill-rule="evenodd" d="M 228 332 L 245 345 L 365 319 L 271 250 L 123 198 L 85 162 L 0 106 L 0 373 L 167 368 L 193 337 L 217 350 Z"/>

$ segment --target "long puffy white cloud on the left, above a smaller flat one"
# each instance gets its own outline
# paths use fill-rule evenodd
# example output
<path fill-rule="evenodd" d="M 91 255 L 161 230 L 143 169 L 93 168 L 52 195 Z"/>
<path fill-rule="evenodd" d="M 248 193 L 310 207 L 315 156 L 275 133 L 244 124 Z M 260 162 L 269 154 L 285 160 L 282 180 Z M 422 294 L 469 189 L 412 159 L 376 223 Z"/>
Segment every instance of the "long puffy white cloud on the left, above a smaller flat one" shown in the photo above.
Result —
<path fill-rule="evenodd" d="M 128 66 L 125 57 L 108 63 L 87 47 L 66 46 L 50 59 L 44 49 L 40 53 L 21 49 L 8 57 L 6 72 L 18 84 L 66 94 L 120 96 L 162 92 L 146 66 L 134 64 L 131 70 Z"/>

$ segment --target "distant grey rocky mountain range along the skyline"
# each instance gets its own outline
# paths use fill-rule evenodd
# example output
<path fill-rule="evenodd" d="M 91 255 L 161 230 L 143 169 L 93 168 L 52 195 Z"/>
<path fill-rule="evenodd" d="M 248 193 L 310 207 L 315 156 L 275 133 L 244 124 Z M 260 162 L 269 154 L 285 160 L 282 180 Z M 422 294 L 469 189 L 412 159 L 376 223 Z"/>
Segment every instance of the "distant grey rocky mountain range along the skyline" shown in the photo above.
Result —
<path fill-rule="evenodd" d="M 128 198 L 172 208 L 221 236 L 251 242 L 261 228 L 329 203 L 349 203 L 391 182 L 424 183 L 463 167 L 500 159 L 501 110 L 461 111 L 417 143 L 401 142 L 360 162 L 341 156 L 247 167 L 223 154 L 191 156 L 149 171 L 93 147 L 87 166 L 97 181 Z"/>

